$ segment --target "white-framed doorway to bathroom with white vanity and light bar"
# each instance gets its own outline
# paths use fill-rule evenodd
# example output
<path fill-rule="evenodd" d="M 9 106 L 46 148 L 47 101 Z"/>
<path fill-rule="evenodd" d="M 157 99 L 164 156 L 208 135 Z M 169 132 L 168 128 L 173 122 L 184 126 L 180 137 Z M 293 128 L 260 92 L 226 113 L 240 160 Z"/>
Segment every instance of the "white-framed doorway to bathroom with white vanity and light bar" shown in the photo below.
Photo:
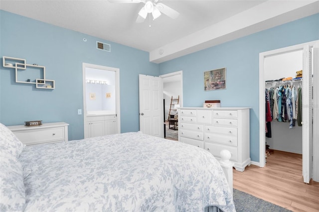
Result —
<path fill-rule="evenodd" d="M 120 70 L 83 63 L 84 138 L 121 131 Z"/>

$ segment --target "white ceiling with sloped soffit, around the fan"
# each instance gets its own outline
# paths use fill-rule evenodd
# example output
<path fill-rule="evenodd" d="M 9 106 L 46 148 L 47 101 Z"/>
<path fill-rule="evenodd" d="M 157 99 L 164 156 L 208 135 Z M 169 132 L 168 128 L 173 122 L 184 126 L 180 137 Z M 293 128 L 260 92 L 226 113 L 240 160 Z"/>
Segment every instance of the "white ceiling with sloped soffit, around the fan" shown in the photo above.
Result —
<path fill-rule="evenodd" d="M 160 2 L 180 15 L 136 23 L 144 3 L 108 0 L 0 0 L 0 9 L 147 51 L 154 63 L 319 12 L 318 0 Z"/>

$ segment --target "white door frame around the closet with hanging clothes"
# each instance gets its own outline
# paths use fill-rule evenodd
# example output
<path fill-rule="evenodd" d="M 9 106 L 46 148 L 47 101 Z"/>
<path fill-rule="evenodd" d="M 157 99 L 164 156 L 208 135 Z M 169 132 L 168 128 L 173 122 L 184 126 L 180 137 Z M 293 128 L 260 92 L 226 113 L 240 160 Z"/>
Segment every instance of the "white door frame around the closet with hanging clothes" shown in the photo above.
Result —
<path fill-rule="evenodd" d="M 259 166 L 260 167 L 265 167 L 265 163 L 266 163 L 266 158 L 265 158 L 265 152 L 266 152 L 265 121 L 263 121 L 263 120 L 265 120 L 264 60 L 267 57 L 280 55 L 280 54 L 283 54 L 283 53 L 289 53 L 289 52 L 303 50 L 306 45 L 309 45 L 310 47 L 313 47 L 317 42 L 319 42 L 319 41 L 317 40 L 317 41 L 312 41 L 312 42 L 308 42 L 308 43 L 298 44 L 298 45 L 295 45 L 295 46 L 290 46 L 290 47 L 286 47 L 286 48 L 276 49 L 276 50 L 263 52 L 263 53 L 259 54 L 259 141 L 260 141 L 259 142 Z M 314 75 L 315 75 L 315 73 L 314 73 Z M 317 120 L 314 119 L 314 122 L 317 121 Z M 314 134 L 314 136 L 315 136 L 315 134 Z M 315 138 L 314 137 L 314 146 L 313 146 L 314 150 L 319 148 L 318 139 L 319 138 Z M 319 161 L 318 161 L 319 159 L 318 159 L 317 156 L 315 158 L 315 155 L 316 154 L 314 154 L 314 168 L 315 168 L 315 164 L 319 163 Z M 318 171 L 317 172 L 314 171 L 314 173 L 318 173 Z"/>

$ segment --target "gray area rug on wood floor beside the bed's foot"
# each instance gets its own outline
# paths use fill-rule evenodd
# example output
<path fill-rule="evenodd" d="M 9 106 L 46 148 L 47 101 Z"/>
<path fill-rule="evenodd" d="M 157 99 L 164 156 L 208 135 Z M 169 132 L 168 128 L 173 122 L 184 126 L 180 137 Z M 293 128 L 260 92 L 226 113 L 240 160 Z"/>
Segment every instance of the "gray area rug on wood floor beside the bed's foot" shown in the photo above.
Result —
<path fill-rule="evenodd" d="M 236 189 L 233 192 L 237 212 L 291 212 L 245 192 Z"/>

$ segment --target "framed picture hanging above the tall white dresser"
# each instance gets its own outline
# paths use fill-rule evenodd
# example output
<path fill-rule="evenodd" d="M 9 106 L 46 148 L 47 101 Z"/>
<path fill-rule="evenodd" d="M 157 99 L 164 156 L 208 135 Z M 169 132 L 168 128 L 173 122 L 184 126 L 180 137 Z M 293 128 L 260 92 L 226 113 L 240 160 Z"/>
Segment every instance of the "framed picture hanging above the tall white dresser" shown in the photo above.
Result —
<path fill-rule="evenodd" d="M 226 68 L 204 71 L 204 90 L 226 89 Z"/>

